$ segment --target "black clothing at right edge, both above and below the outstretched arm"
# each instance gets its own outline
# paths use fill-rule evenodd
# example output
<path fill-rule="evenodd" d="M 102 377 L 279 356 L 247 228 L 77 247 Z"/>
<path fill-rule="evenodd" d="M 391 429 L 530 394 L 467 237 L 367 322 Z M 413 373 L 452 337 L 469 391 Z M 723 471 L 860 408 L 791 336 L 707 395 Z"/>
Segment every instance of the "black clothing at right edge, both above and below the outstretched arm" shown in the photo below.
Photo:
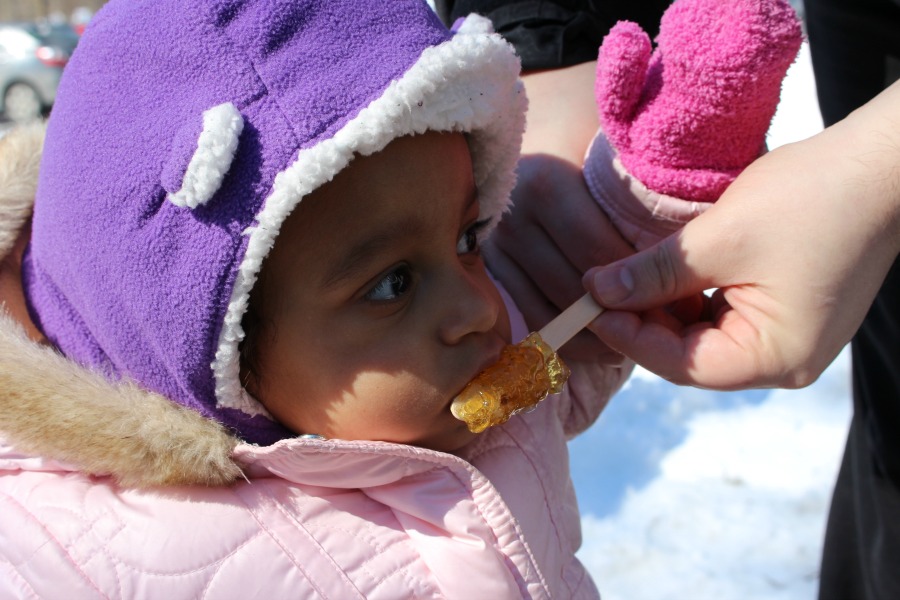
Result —
<path fill-rule="evenodd" d="M 900 78 L 900 0 L 806 0 L 826 125 Z M 900 598 L 900 260 L 851 344 L 854 416 L 835 485 L 821 600 Z"/>

